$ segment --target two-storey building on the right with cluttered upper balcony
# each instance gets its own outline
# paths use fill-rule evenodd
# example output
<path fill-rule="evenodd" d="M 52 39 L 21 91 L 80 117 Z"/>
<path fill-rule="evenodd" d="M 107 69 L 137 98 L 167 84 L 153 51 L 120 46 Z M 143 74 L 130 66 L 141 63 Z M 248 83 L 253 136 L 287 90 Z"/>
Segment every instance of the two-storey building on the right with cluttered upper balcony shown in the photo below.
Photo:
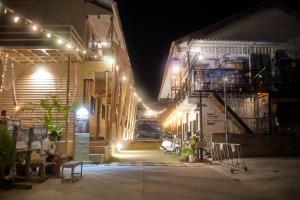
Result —
<path fill-rule="evenodd" d="M 165 129 L 182 142 L 278 131 L 279 102 L 299 109 L 299 27 L 298 13 L 263 4 L 174 41 L 158 97 Z"/>

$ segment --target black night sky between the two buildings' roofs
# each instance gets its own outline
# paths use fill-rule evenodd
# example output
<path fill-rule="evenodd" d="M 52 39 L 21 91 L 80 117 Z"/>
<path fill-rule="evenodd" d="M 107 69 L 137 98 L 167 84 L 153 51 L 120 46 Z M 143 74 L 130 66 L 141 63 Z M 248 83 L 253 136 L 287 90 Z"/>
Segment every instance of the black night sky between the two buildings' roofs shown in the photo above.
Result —
<path fill-rule="evenodd" d="M 116 1 L 138 92 L 144 99 L 148 99 L 148 102 L 157 99 L 164 64 L 172 41 L 261 2 L 258 0 Z"/>

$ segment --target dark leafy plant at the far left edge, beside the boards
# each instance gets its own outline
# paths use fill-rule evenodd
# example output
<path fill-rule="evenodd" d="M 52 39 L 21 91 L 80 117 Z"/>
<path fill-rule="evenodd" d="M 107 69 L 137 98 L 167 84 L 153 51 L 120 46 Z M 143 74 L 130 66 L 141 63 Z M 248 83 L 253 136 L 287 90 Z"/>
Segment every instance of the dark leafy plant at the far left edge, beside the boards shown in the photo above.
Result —
<path fill-rule="evenodd" d="M 0 183 L 4 189 L 12 187 L 14 157 L 13 138 L 8 134 L 7 126 L 0 124 Z"/>

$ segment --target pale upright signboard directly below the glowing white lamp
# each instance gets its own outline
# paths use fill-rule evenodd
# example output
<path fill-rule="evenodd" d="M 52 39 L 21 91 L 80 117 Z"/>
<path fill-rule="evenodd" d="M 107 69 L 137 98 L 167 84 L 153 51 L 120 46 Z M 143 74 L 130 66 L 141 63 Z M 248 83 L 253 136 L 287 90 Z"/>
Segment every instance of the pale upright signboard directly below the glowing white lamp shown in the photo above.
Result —
<path fill-rule="evenodd" d="M 75 160 L 88 161 L 89 160 L 89 133 L 75 133 Z"/>

